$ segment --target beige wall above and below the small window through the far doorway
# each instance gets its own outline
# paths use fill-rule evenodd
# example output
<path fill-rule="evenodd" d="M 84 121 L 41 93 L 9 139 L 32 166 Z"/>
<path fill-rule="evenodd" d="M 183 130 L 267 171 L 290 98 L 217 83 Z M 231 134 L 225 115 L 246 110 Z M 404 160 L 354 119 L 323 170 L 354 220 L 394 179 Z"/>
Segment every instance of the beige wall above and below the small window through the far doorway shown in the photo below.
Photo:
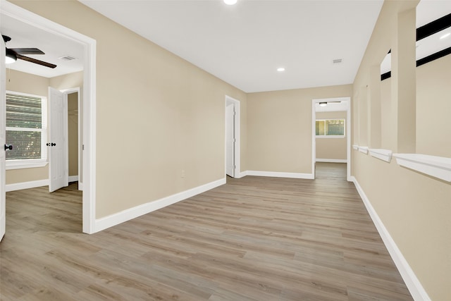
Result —
<path fill-rule="evenodd" d="M 318 119 L 345 119 L 347 112 L 318 112 Z M 347 139 L 343 138 L 316 138 L 316 159 L 347 159 Z"/>

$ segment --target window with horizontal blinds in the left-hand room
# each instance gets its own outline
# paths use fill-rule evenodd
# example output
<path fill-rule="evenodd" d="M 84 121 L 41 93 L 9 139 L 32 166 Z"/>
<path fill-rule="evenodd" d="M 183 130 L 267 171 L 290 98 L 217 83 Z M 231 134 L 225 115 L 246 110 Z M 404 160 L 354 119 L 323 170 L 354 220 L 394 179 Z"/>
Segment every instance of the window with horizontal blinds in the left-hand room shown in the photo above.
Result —
<path fill-rule="evenodd" d="M 6 93 L 6 143 L 13 145 L 6 160 L 47 159 L 46 98 Z"/>

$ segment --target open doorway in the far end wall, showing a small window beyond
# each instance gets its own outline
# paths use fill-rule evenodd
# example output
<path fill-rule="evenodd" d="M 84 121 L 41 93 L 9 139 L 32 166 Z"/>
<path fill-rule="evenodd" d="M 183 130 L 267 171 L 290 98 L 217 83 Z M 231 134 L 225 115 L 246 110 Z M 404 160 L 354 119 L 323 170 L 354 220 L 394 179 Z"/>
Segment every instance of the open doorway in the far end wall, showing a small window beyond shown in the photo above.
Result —
<path fill-rule="evenodd" d="M 316 178 L 317 163 L 346 164 L 351 175 L 351 98 L 335 97 L 312 100 L 312 171 Z M 340 169 L 340 168 L 339 168 Z"/>

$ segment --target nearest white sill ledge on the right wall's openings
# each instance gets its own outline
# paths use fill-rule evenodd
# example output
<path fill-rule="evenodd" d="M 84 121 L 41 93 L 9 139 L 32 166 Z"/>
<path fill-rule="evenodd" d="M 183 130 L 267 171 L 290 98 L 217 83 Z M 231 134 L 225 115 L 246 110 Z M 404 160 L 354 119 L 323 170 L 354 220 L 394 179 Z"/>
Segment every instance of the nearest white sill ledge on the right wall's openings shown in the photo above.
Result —
<path fill-rule="evenodd" d="M 393 154 L 397 164 L 451 182 L 451 158 L 427 154 Z"/>

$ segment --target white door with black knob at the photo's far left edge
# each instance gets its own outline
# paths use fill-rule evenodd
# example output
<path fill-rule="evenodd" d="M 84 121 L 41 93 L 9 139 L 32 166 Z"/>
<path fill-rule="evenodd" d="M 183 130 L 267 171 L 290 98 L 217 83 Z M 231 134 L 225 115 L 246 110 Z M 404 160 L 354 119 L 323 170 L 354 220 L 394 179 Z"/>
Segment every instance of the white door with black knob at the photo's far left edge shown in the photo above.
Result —
<path fill-rule="evenodd" d="M 0 241 L 6 230 L 5 157 L 6 157 L 6 66 L 5 42 L 0 44 Z"/>

